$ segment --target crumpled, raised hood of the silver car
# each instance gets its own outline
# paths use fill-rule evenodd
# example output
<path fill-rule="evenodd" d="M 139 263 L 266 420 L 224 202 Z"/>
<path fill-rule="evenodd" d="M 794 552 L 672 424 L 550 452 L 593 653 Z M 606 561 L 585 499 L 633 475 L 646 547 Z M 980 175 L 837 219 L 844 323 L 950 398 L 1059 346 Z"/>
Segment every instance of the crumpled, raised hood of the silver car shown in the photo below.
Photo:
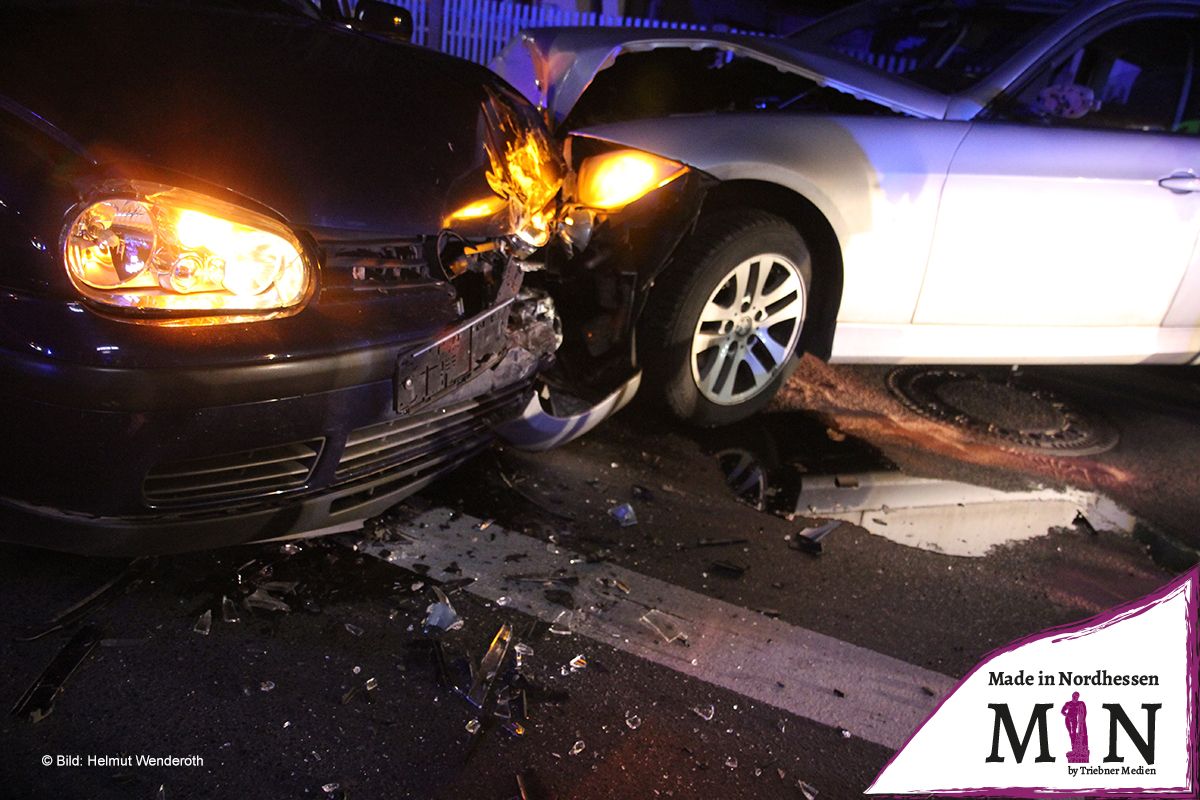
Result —
<path fill-rule="evenodd" d="M 786 38 L 708 31 L 622 28 L 533 28 L 496 56 L 491 68 L 562 124 L 596 73 L 625 53 L 718 48 L 845 91 L 912 116 L 941 119 L 948 98 L 869 65 L 798 48 Z"/>

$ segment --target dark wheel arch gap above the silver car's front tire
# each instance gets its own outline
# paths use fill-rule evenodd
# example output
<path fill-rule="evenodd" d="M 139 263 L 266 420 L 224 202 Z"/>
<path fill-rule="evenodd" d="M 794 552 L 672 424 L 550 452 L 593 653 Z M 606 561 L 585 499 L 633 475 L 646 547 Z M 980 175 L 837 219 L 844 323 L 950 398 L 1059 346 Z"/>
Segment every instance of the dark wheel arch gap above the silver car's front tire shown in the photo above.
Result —
<path fill-rule="evenodd" d="M 794 227 L 812 249 L 812 287 L 798 353 L 828 359 L 841 307 L 841 243 L 828 217 L 794 190 L 761 180 L 726 180 L 704 197 L 701 217 L 731 209 L 773 213 Z"/>

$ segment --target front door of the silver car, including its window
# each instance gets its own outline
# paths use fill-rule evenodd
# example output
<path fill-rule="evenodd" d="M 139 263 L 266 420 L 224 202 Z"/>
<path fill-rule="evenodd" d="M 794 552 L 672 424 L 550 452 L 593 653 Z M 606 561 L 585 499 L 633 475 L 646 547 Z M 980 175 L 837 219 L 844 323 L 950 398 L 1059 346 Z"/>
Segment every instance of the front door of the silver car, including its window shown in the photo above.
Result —
<path fill-rule="evenodd" d="M 971 126 L 914 323 L 1162 324 L 1200 231 L 1196 31 L 1098 23 Z"/>

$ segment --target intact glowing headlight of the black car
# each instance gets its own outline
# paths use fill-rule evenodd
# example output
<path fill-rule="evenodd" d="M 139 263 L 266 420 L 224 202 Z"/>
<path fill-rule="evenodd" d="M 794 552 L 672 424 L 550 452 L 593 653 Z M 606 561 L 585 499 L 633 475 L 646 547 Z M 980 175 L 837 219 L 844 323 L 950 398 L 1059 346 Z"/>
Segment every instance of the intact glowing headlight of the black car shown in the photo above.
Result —
<path fill-rule="evenodd" d="M 214 314 L 294 307 L 310 267 L 284 225 L 182 190 L 83 207 L 62 234 L 76 288 L 109 306 Z"/>

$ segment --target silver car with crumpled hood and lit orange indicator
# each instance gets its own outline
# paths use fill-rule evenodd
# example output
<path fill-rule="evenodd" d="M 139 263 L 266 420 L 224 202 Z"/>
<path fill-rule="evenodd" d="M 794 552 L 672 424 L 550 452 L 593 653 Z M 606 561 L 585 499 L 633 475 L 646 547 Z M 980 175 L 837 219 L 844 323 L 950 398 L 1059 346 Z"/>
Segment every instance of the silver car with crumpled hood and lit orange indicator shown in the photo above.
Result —
<path fill-rule="evenodd" d="M 577 249 L 652 225 L 610 267 L 643 384 L 716 425 L 805 350 L 1194 362 L 1198 42 L 1194 1 L 932 0 L 784 38 L 529 30 L 492 66 L 568 140 Z"/>

